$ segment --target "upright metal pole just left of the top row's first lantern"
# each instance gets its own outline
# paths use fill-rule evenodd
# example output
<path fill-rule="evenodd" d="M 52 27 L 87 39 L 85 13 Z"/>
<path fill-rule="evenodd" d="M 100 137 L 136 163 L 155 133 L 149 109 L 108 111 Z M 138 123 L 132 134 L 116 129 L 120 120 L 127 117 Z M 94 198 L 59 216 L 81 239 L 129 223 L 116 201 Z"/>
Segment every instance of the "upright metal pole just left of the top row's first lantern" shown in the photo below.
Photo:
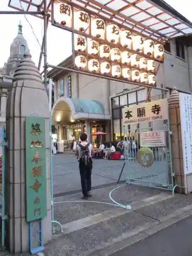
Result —
<path fill-rule="evenodd" d="M 44 0 L 44 79 L 47 90 L 47 0 Z"/>

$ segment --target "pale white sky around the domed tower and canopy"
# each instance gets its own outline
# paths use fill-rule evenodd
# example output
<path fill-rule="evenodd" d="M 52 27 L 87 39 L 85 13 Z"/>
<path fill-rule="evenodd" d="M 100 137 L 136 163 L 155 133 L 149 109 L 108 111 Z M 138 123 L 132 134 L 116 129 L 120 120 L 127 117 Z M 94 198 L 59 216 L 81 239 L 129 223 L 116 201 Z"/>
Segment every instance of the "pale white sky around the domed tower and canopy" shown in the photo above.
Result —
<path fill-rule="evenodd" d="M 41 0 L 35 0 L 35 3 L 41 2 Z M 13 11 L 14 9 L 8 7 L 9 0 L 0 0 L 0 10 L 1 11 Z M 172 6 L 188 20 L 192 22 L 191 10 L 192 1 L 191 0 L 165 0 L 167 4 Z M 19 0 L 11 0 L 11 3 L 19 6 Z M 23 25 L 23 35 L 28 42 L 30 53 L 35 64 L 38 66 L 40 45 L 42 42 L 42 37 L 44 33 L 43 20 L 40 18 L 33 17 L 31 15 L 26 15 L 27 20 L 24 15 L 13 15 L 13 14 L 0 14 L 0 24 L 1 24 L 1 39 L 0 39 L 0 67 L 4 66 L 4 62 L 7 61 L 10 55 L 10 45 L 17 35 L 18 24 L 21 21 Z M 32 28 L 31 28 L 32 26 Z M 34 35 L 35 34 L 35 35 Z M 36 37 L 39 41 L 37 41 Z M 40 44 L 40 45 L 39 45 Z M 57 65 L 62 60 L 71 55 L 71 33 L 51 25 L 48 26 L 47 32 L 47 50 L 48 50 L 48 63 L 50 65 Z M 42 61 L 43 62 L 43 61 Z"/>

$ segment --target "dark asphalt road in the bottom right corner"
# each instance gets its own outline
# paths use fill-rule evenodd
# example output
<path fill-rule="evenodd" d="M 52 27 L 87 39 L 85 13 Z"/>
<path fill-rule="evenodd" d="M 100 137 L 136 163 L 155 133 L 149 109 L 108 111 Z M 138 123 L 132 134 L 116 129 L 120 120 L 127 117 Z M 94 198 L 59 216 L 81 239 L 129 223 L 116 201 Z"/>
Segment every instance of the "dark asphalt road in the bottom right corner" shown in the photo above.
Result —
<path fill-rule="evenodd" d="M 191 256 L 192 217 L 167 227 L 111 256 Z"/>

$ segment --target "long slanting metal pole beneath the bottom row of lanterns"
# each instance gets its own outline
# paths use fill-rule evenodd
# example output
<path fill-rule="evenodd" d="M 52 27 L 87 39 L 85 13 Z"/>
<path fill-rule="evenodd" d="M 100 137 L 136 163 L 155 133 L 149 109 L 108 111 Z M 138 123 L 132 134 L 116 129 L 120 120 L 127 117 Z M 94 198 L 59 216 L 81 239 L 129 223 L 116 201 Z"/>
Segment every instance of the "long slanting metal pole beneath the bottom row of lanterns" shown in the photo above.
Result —
<path fill-rule="evenodd" d="M 75 69 L 70 69 L 70 68 L 63 68 L 63 67 L 53 66 L 53 65 L 49 65 L 49 64 L 47 64 L 47 67 L 52 68 L 52 69 L 67 70 L 69 72 L 75 72 L 75 73 L 79 73 L 79 74 L 87 75 L 87 76 L 94 76 L 94 77 L 108 79 L 108 80 L 112 80 L 112 81 L 116 81 L 116 82 L 124 82 L 124 83 L 128 83 L 128 84 L 134 84 L 136 86 L 152 88 L 152 89 L 156 89 L 156 90 L 160 90 L 160 91 L 168 91 L 167 89 L 157 88 L 157 87 L 153 87 L 153 86 L 147 86 L 146 84 L 142 84 L 142 83 L 140 84 L 140 83 L 137 83 L 137 82 L 126 81 L 126 80 L 123 80 L 123 79 L 120 79 L 120 78 L 102 76 L 102 75 L 99 75 L 99 74 L 88 73 L 88 72 L 85 72 L 85 71 L 80 71 L 80 70 L 75 70 Z"/>

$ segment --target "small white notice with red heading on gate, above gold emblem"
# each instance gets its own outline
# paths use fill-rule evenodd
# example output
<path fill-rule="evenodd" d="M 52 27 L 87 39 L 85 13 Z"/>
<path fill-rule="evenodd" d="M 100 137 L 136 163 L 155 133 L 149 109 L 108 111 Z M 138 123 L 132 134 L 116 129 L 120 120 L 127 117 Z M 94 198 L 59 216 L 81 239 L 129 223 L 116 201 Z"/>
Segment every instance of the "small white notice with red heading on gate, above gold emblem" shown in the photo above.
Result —
<path fill-rule="evenodd" d="M 140 134 L 140 146 L 165 146 L 165 132 L 147 132 Z"/>

